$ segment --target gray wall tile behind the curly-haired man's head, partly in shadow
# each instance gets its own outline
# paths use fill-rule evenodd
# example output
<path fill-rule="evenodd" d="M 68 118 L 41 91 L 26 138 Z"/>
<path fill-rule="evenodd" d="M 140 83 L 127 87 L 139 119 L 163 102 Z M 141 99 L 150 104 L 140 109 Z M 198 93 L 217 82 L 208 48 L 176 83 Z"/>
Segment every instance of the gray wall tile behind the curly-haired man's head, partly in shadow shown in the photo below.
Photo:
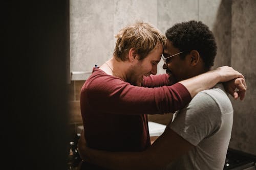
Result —
<path fill-rule="evenodd" d="M 214 5 L 212 2 L 216 2 Z M 200 1 L 200 18 L 214 33 L 217 43 L 217 55 L 214 68 L 231 65 L 231 0 L 227 1 Z M 207 6 L 207 4 L 209 6 Z M 206 6 L 204 8 L 204 6 Z M 214 6 L 214 8 L 212 8 Z M 211 14 L 209 16 L 207 10 Z M 212 19 L 211 19 L 212 18 Z"/>

